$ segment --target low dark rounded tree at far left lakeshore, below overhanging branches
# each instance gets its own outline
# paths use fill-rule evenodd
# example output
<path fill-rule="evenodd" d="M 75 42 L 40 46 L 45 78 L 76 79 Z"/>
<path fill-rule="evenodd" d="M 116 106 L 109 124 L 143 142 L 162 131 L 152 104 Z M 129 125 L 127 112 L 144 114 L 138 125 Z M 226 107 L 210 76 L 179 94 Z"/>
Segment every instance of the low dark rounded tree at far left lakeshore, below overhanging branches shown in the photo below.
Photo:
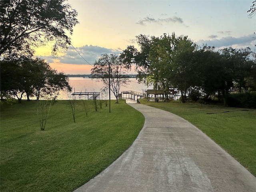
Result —
<path fill-rule="evenodd" d="M 40 58 L 19 58 L 1 62 L 1 97 L 15 96 L 21 102 L 26 94 L 39 98 L 56 98 L 62 89 L 71 91 L 68 77 L 50 68 L 49 64 Z"/>

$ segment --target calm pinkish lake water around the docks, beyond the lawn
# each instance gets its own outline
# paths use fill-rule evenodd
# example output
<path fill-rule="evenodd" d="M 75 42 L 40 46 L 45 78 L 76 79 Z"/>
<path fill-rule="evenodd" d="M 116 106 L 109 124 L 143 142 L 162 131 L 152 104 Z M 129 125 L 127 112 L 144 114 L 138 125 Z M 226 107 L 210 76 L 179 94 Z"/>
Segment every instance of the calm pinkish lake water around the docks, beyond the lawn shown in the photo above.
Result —
<path fill-rule="evenodd" d="M 120 87 L 121 91 L 136 91 L 136 92 L 143 92 L 143 90 L 152 89 L 152 86 L 145 86 L 144 84 L 139 84 L 136 78 L 130 78 L 130 83 L 126 86 Z M 69 84 L 72 86 L 72 92 L 101 92 L 100 98 L 101 99 L 108 99 L 108 91 L 104 93 L 101 89 L 104 87 L 103 83 L 96 79 L 91 78 L 82 78 L 82 77 L 70 77 Z M 72 98 L 71 93 L 67 93 L 65 91 L 60 92 L 58 96 L 58 100 L 67 100 L 68 98 Z M 115 99 L 114 94 L 111 92 L 110 94 L 111 99 Z M 78 98 L 78 96 L 77 96 Z"/>

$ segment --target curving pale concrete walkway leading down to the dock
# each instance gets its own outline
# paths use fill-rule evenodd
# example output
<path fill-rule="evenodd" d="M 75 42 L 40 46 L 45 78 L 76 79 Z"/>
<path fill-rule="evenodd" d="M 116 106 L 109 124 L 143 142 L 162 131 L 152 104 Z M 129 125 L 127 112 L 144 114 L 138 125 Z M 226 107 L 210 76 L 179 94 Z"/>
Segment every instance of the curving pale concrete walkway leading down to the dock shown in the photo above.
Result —
<path fill-rule="evenodd" d="M 145 116 L 132 146 L 75 192 L 256 192 L 256 178 L 198 128 L 170 112 Z"/>

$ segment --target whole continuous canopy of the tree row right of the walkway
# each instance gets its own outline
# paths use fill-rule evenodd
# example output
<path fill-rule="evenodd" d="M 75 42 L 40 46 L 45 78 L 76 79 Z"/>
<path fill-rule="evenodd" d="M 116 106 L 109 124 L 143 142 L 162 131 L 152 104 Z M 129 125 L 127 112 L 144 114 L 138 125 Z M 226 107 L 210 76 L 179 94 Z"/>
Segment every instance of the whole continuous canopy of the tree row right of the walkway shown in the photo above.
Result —
<path fill-rule="evenodd" d="M 136 65 L 138 80 L 163 89 L 179 90 L 182 102 L 198 93 L 222 95 L 224 105 L 231 91 L 255 90 L 255 53 L 250 48 L 216 49 L 199 47 L 187 36 L 164 34 L 136 36 L 140 51 L 128 46 L 120 55 L 126 64 Z"/>

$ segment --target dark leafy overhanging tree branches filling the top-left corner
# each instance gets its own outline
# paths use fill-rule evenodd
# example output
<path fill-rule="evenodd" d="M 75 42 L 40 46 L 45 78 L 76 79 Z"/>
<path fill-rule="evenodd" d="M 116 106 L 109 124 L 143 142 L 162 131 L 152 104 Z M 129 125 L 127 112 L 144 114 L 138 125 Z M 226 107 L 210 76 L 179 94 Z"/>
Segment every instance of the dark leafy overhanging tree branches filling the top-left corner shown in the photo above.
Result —
<path fill-rule="evenodd" d="M 67 48 L 73 27 L 78 23 L 77 12 L 66 0 L 1 0 L 0 1 L 0 55 L 30 54 L 34 47 L 55 42 L 52 54 L 58 48 Z"/>

